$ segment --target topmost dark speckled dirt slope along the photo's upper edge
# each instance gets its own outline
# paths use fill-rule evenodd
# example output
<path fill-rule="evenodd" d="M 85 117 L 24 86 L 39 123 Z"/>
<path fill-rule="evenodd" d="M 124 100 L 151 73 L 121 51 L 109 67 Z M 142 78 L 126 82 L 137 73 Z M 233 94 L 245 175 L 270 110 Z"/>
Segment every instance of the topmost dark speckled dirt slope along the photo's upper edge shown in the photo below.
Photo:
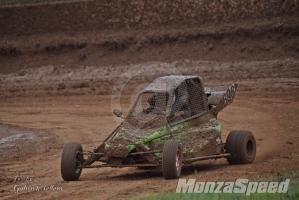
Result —
<path fill-rule="evenodd" d="M 294 0 L 75 1 L 0 7 L 0 34 L 146 28 L 273 17 L 298 10 Z M 9 21 L 7 20 L 9 19 Z"/>

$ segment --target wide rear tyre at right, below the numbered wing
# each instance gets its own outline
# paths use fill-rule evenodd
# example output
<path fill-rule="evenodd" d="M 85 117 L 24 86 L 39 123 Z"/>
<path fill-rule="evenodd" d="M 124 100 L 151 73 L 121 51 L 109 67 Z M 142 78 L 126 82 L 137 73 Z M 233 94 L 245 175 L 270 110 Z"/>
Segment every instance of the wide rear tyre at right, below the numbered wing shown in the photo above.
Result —
<path fill-rule="evenodd" d="M 256 155 L 256 142 L 253 134 L 246 130 L 231 131 L 226 139 L 226 153 L 230 164 L 252 163 Z"/>

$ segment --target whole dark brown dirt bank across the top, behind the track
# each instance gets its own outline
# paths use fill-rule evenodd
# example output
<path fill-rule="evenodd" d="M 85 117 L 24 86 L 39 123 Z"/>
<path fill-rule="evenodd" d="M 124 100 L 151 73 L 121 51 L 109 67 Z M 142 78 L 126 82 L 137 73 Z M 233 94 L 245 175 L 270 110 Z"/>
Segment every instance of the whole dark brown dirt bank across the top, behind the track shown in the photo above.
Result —
<path fill-rule="evenodd" d="M 0 7 L 0 73 L 47 65 L 298 57 L 298 1 L 103 0 Z"/>

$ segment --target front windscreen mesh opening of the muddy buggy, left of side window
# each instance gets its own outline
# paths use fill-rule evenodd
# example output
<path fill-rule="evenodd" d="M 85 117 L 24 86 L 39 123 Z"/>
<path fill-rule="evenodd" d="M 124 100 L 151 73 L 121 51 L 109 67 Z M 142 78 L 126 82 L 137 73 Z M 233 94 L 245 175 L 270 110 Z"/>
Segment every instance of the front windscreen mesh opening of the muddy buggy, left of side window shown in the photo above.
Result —
<path fill-rule="evenodd" d="M 144 92 L 139 96 L 132 115 L 163 114 L 166 112 L 169 95 L 166 92 Z"/>

